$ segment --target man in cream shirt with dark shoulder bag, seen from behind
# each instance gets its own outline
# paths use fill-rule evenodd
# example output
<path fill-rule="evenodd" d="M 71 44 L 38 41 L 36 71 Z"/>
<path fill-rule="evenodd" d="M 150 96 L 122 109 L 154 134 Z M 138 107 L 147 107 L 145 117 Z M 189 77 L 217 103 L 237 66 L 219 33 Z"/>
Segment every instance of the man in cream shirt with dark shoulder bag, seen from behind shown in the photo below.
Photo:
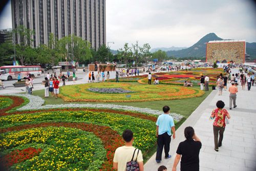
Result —
<path fill-rule="evenodd" d="M 143 171 L 144 166 L 142 153 L 141 150 L 133 146 L 133 132 L 131 130 L 125 130 L 123 131 L 122 137 L 125 142 L 125 145 L 120 146 L 119 148 L 116 149 L 113 159 L 113 168 L 120 171 L 124 171 L 127 169 L 127 162 L 137 161 L 139 165 L 138 170 Z"/>

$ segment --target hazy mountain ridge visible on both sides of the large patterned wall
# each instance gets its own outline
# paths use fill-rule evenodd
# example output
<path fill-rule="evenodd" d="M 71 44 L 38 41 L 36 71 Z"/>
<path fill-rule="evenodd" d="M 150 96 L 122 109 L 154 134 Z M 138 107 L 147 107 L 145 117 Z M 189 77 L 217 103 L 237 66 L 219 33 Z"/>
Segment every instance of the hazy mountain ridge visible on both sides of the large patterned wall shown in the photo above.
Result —
<path fill-rule="evenodd" d="M 206 43 L 213 40 L 224 40 L 218 37 L 215 33 L 209 33 L 201 38 L 196 44 L 179 51 L 167 51 L 167 56 L 174 56 L 178 58 L 183 57 L 205 57 Z M 226 39 L 228 40 L 228 39 Z M 251 59 L 256 58 L 256 43 L 246 42 L 246 53 L 250 55 Z"/>

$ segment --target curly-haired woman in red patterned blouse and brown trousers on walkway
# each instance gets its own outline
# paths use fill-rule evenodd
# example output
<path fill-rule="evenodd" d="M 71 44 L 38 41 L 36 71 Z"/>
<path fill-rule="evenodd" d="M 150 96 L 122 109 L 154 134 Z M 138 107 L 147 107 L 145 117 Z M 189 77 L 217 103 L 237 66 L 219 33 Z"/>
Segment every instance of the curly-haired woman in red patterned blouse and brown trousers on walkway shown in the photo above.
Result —
<path fill-rule="evenodd" d="M 226 109 L 223 109 L 225 106 L 224 102 L 218 101 L 216 103 L 216 106 L 217 108 L 211 112 L 210 118 L 215 119 L 213 124 L 214 125 L 214 150 L 218 152 L 219 147 L 222 146 L 223 134 L 226 127 L 225 118 L 227 117 L 230 119 L 230 115 Z M 218 140 L 219 134 L 220 134 L 220 138 Z"/>

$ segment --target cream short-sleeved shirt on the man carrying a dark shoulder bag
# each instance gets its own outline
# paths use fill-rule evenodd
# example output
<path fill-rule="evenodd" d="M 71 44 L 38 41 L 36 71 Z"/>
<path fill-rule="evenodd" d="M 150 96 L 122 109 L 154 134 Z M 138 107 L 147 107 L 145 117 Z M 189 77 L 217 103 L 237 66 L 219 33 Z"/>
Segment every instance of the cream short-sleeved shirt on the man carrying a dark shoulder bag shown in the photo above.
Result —
<path fill-rule="evenodd" d="M 118 171 L 125 171 L 126 170 L 126 163 L 132 160 L 133 153 L 134 153 L 135 147 L 133 146 L 120 146 L 116 149 L 113 162 L 117 163 Z M 134 159 L 135 161 L 137 157 L 137 162 L 142 162 L 143 157 L 141 150 L 139 151 L 139 154 L 137 156 L 138 149 L 135 151 Z"/>

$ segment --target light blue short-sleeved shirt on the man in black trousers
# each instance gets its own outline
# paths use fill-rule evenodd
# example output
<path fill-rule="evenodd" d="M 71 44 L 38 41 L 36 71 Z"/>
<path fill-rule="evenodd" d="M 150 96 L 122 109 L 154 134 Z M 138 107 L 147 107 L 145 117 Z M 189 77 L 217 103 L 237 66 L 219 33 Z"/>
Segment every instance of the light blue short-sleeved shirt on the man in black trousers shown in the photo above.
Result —
<path fill-rule="evenodd" d="M 157 118 L 158 135 L 162 135 L 167 132 L 168 135 L 172 135 L 171 127 L 174 127 L 174 119 L 168 114 L 161 114 Z"/>

